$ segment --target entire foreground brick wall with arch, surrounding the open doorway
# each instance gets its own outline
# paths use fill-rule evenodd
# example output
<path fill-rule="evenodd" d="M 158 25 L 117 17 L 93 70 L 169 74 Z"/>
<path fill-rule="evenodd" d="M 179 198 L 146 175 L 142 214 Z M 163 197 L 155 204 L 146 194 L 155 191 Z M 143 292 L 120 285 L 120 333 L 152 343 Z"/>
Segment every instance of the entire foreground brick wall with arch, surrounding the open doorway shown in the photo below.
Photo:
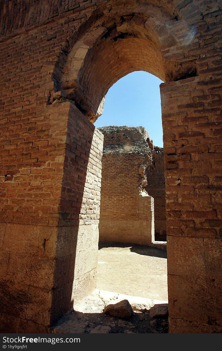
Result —
<path fill-rule="evenodd" d="M 102 137 L 89 120 L 144 70 L 165 82 L 169 331 L 221 332 L 221 3 L 3 0 L 0 16 L 1 330 L 49 330 L 71 306 L 73 270 L 93 271 L 82 255 L 95 247 Z"/>

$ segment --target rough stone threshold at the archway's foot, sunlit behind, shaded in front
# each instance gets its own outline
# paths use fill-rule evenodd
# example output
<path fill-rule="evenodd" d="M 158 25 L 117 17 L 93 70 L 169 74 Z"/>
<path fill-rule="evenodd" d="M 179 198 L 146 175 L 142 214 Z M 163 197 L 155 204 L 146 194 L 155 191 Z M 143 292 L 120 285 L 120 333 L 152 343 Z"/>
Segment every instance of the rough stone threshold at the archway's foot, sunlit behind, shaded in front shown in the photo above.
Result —
<path fill-rule="evenodd" d="M 123 319 L 119 316 L 110 316 L 103 311 L 107 305 L 122 305 L 128 301 L 132 303 L 132 316 Z M 130 303 L 129 303 L 130 301 Z M 138 301 L 138 302 L 137 302 Z M 143 309 L 137 310 L 137 306 Z M 134 302 L 134 303 L 133 303 Z M 154 319 L 150 316 L 152 306 L 164 301 L 140 298 L 118 294 L 115 292 L 98 290 L 93 291 L 88 297 L 75 305 L 75 310 L 62 317 L 54 327 L 54 333 L 167 333 L 168 318 L 159 316 Z M 166 303 L 166 301 L 165 301 Z M 122 314 L 123 317 L 123 314 Z"/>

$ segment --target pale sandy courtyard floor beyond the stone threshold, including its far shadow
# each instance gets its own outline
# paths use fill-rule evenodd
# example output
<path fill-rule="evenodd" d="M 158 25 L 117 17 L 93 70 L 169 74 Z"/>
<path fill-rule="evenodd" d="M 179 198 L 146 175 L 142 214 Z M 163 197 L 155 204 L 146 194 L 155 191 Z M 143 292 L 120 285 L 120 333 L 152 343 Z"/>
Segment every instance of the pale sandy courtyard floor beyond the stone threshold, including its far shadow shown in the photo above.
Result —
<path fill-rule="evenodd" d="M 97 289 L 168 300 L 166 251 L 99 242 Z"/>

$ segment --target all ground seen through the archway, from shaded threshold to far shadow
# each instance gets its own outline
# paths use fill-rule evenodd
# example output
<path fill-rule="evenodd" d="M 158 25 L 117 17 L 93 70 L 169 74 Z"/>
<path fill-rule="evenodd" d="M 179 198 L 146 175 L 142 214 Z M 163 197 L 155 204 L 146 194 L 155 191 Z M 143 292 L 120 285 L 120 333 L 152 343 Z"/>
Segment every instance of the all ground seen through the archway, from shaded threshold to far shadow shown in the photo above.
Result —
<path fill-rule="evenodd" d="M 123 299 L 133 307 L 130 320 L 107 316 L 103 312 L 108 304 Z M 97 289 L 76 303 L 74 310 L 58 321 L 53 332 L 167 333 L 167 300 L 166 251 L 100 242 Z"/>

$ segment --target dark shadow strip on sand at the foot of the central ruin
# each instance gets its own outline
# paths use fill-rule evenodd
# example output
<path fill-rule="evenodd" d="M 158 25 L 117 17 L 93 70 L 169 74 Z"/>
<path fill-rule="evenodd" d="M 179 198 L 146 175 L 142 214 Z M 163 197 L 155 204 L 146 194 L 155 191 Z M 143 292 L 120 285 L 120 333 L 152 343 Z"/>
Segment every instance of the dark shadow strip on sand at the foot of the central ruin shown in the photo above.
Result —
<path fill-rule="evenodd" d="M 115 243 L 110 241 L 99 241 L 99 250 L 104 247 L 130 247 L 131 252 L 136 252 L 140 255 L 167 258 L 167 252 L 161 249 L 155 249 L 154 247 L 136 244 L 125 244 L 125 243 Z"/>

